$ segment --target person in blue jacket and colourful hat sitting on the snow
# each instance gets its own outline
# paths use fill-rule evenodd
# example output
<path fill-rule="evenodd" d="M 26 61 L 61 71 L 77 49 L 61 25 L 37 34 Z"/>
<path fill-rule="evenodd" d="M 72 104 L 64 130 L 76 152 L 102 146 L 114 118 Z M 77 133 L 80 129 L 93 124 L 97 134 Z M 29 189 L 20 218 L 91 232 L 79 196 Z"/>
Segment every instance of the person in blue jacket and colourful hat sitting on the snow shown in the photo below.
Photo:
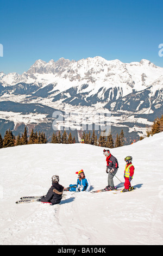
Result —
<path fill-rule="evenodd" d="M 91 184 L 89 179 L 86 178 L 84 174 L 84 170 L 79 170 L 79 172 L 76 172 L 78 174 L 78 180 L 77 180 L 77 185 L 76 184 L 70 184 L 70 189 L 69 191 L 86 191 L 88 192 L 90 190 Z M 76 186 L 76 187 L 74 187 Z"/>

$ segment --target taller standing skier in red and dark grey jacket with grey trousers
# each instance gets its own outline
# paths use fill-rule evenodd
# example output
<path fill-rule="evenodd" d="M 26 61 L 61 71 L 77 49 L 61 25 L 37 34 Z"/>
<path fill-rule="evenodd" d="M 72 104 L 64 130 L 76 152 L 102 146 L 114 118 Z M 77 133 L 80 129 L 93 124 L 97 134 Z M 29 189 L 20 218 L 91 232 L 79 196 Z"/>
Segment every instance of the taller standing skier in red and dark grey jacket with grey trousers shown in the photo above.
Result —
<path fill-rule="evenodd" d="M 115 156 L 110 154 L 110 150 L 103 150 L 103 154 L 106 156 L 106 173 L 108 173 L 108 186 L 105 187 L 106 190 L 115 190 L 113 178 L 117 173 L 119 168 L 118 161 Z"/>

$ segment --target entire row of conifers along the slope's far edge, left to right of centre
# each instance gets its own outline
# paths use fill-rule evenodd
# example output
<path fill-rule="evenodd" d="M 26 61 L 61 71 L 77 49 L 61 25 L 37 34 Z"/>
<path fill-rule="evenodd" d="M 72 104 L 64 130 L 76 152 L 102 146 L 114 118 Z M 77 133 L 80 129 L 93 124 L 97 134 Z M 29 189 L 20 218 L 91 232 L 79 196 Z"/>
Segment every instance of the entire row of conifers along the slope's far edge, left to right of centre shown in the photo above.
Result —
<path fill-rule="evenodd" d="M 14 147 L 18 145 L 27 145 L 27 144 L 45 144 L 47 143 L 47 138 L 45 136 L 45 133 L 43 132 L 34 132 L 32 129 L 32 132 L 30 133 L 30 136 L 27 135 L 27 128 L 24 128 L 24 132 L 20 136 L 18 134 L 17 137 L 15 137 L 11 130 L 7 130 L 5 132 L 4 138 L 2 138 L 0 134 L 0 148 L 7 148 L 7 147 Z M 62 144 L 72 144 L 76 143 L 75 137 L 72 137 L 71 132 L 67 136 L 66 131 L 61 133 L 60 131 L 54 133 L 51 139 L 51 143 L 62 143 Z M 85 144 L 91 144 L 91 145 L 97 145 L 99 147 L 107 147 L 107 148 L 116 148 L 121 147 L 124 144 L 124 133 L 123 130 L 121 131 L 120 136 L 117 134 L 116 141 L 114 142 L 114 139 L 112 138 L 111 133 L 109 133 L 108 136 L 105 135 L 104 132 L 101 133 L 99 136 L 99 139 L 97 139 L 97 135 L 95 134 L 95 130 L 93 130 L 92 135 L 91 132 L 83 132 L 82 136 L 82 143 Z"/>

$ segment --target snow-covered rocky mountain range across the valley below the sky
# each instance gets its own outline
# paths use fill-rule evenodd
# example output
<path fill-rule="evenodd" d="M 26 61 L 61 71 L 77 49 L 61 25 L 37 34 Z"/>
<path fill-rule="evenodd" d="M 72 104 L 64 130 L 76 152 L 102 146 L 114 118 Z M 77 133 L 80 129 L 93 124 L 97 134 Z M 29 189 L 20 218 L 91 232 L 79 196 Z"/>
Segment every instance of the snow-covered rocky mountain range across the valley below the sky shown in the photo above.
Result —
<path fill-rule="evenodd" d="M 111 113 L 111 126 L 143 135 L 146 125 L 163 113 L 163 68 L 145 59 L 131 63 L 102 57 L 79 61 L 61 58 L 48 63 L 39 59 L 22 75 L 0 72 L 0 95 L 1 117 L 14 122 L 14 129 L 22 123 L 38 125 L 44 120 L 47 124 L 55 108 L 75 110 L 80 117 Z M 28 103 L 28 108 L 33 103 L 41 111 L 34 111 L 34 107 L 28 113 L 17 111 L 20 105 L 12 102 Z"/>

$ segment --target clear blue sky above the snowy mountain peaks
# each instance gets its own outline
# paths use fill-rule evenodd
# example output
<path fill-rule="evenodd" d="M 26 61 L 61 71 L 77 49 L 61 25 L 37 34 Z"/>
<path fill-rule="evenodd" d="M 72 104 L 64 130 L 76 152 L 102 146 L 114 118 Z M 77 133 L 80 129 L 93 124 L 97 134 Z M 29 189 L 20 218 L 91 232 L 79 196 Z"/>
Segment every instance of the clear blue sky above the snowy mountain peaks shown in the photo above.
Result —
<path fill-rule="evenodd" d="M 0 72 L 27 71 L 37 59 L 101 56 L 148 59 L 163 67 L 163 1 L 0 0 Z"/>

